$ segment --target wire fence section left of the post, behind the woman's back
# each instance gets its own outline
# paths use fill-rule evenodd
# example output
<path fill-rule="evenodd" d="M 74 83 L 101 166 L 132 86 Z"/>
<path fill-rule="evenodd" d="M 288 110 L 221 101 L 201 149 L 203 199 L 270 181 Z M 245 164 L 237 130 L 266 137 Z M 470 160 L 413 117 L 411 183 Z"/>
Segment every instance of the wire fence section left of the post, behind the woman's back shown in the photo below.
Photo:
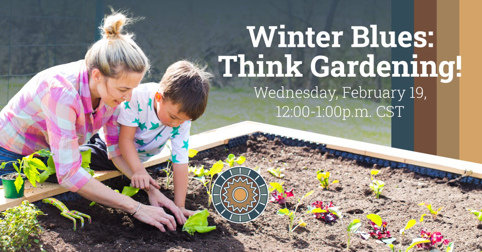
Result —
<path fill-rule="evenodd" d="M 84 58 L 103 0 L 0 1 L 0 109 L 35 74 Z"/>

